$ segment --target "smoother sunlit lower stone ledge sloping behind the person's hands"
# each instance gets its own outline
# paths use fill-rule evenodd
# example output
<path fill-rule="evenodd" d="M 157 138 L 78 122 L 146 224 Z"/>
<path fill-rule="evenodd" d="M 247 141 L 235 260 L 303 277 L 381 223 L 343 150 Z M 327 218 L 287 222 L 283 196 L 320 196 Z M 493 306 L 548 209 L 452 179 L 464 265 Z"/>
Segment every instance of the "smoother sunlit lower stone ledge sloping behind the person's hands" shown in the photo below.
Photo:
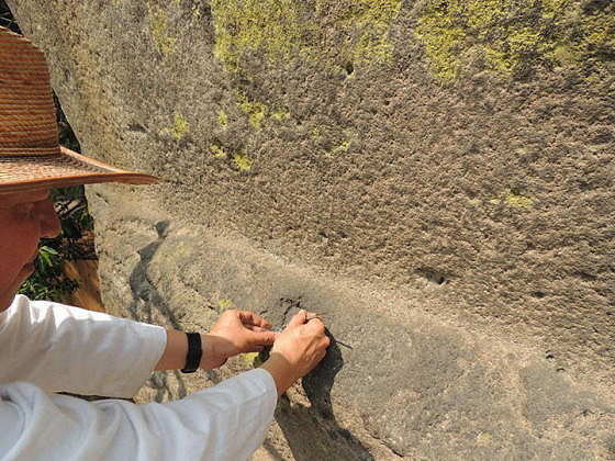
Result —
<path fill-rule="evenodd" d="M 206 328 L 228 307 L 277 326 L 297 307 L 327 312 L 339 342 L 280 401 L 261 459 L 615 459 L 613 395 L 530 348 L 446 325 L 413 300 L 315 276 L 241 236 L 170 222 L 145 194 L 119 191 L 89 193 L 107 304 L 123 306 L 115 313 Z M 227 372 L 210 373 L 208 385 Z M 150 383 L 165 387 L 158 400 L 203 385 L 171 378 Z"/>

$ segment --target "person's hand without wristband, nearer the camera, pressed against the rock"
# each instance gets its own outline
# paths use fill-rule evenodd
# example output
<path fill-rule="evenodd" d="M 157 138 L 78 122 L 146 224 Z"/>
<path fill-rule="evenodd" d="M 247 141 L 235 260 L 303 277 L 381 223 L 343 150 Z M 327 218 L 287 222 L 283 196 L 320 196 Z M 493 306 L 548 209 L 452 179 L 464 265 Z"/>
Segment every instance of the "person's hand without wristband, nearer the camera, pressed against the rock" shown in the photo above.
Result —
<path fill-rule="evenodd" d="M 309 319 L 312 317 L 311 319 Z M 278 394 L 312 371 L 325 357 L 331 339 L 314 314 L 300 311 L 280 333 L 262 368 L 271 373 Z"/>

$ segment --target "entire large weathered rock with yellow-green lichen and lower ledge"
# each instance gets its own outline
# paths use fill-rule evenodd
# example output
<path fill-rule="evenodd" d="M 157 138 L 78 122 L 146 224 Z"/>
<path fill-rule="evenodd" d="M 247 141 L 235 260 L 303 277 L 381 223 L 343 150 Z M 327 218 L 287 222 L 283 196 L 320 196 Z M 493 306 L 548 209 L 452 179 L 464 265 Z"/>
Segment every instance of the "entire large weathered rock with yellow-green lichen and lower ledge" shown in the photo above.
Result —
<path fill-rule="evenodd" d="M 113 312 L 329 313 L 259 457 L 615 459 L 612 2 L 8 3 L 83 151 L 164 179 L 90 192 Z"/>

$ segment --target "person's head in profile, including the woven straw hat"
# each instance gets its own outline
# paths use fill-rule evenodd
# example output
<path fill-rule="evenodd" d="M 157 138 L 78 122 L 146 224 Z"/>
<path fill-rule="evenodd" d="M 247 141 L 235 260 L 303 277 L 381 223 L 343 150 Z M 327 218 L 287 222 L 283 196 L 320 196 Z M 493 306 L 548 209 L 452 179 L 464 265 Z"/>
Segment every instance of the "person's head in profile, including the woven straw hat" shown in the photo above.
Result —
<path fill-rule="evenodd" d="M 0 26 L 0 311 L 32 273 L 38 241 L 60 228 L 52 188 L 156 178 L 81 156 L 58 143 L 45 56 Z"/>

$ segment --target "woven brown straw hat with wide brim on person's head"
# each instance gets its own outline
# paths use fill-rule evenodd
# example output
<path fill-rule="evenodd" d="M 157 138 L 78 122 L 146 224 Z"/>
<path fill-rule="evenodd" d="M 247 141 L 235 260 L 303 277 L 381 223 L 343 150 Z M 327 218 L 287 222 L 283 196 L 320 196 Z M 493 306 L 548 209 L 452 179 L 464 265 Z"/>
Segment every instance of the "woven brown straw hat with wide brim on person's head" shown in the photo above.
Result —
<path fill-rule="evenodd" d="M 148 184 L 156 178 L 62 147 L 45 56 L 0 27 L 0 193 L 94 182 Z"/>

